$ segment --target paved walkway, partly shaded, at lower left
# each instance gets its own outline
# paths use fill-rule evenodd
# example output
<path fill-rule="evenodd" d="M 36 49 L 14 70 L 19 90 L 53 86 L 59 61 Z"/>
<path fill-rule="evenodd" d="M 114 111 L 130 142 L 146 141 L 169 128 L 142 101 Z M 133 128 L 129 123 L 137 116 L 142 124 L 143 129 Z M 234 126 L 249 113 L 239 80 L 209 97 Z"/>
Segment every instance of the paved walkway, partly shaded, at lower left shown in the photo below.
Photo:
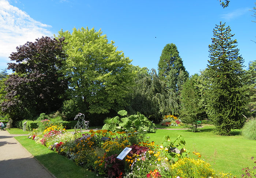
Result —
<path fill-rule="evenodd" d="M 53 178 L 22 145 L 5 130 L 0 130 L 1 178 Z"/>

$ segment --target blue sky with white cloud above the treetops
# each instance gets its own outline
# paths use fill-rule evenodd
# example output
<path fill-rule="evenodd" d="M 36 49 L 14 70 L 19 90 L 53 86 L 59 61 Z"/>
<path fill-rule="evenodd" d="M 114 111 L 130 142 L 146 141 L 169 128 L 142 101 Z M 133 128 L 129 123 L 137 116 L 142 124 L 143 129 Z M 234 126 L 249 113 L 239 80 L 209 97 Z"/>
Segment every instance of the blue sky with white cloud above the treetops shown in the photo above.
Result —
<path fill-rule="evenodd" d="M 212 30 L 220 21 L 236 34 L 233 39 L 248 67 L 256 60 L 256 43 L 251 41 L 256 41 L 256 23 L 249 11 L 254 3 L 230 0 L 223 9 L 218 0 L 0 0 L 0 69 L 7 67 L 16 46 L 60 29 L 88 26 L 115 41 L 133 65 L 149 69 L 158 68 L 163 47 L 174 43 L 193 75 L 206 68 Z"/>

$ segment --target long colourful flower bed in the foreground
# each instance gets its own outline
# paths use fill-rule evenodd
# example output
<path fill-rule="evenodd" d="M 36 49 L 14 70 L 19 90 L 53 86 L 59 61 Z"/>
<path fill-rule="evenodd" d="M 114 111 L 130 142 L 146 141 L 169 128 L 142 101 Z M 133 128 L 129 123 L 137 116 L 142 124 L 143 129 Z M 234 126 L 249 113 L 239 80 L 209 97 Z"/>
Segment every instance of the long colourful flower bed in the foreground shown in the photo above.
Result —
<path fill-rule="evenodd" d="M 90 130 L 89 133 L 73 135 L 61 129 L 58 126 L 50 126 L 43 132 L 34 130 L 29 137 L 38 144 L 67 156 L 77 165 L 105 177 L 232 177 L 230 174 L 215 174 L 210 164 L 200 159 L 199 153 L 189 154 L 181 136 L 174 141 L 165 136 L 165 141 L 161 145 L 155 145 L 154 142 L 145 140 L 145 132 L 114 133 L 107 130 Z M 125 147 L 132 150 L 123 160 L 118 160 L 116 157 Z"/>

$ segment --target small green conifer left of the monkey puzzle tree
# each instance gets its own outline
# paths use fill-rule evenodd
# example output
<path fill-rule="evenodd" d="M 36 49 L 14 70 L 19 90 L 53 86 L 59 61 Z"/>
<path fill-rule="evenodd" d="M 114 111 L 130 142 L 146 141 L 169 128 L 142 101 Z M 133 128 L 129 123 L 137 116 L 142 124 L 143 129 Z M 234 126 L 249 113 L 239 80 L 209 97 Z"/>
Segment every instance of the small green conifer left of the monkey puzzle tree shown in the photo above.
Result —
<path fill-rule="evenodd" d="M 201 92 L 197 84 L 199 75 L 192 75 L 182 86 L 181 90 L 181 120 L 190 124 L 193 132 L 197 132 L 200 124 L 197 121 L 203 119 L 205 113 L 204 105 L 202 105 Z"/>

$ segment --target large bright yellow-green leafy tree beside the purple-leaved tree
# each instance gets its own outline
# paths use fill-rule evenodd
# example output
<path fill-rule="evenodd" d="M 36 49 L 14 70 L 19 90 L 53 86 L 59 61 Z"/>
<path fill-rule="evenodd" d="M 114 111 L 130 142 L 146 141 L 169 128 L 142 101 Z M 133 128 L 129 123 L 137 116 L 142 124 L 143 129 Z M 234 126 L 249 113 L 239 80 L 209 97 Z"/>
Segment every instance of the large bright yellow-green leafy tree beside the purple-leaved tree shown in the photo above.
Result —
<path fill-rule="evenodd" d="M 83 101 L 86 113 L 109 113 L 127 105 L 130 86 L 133 84 L 131 61 L 118 51 L 114 42 L 109 43 L 102 31 L 73 29 L 59 31 L 65 37 L 68 55 L 66 75 L 70 77 L 71 95 Z"/>

